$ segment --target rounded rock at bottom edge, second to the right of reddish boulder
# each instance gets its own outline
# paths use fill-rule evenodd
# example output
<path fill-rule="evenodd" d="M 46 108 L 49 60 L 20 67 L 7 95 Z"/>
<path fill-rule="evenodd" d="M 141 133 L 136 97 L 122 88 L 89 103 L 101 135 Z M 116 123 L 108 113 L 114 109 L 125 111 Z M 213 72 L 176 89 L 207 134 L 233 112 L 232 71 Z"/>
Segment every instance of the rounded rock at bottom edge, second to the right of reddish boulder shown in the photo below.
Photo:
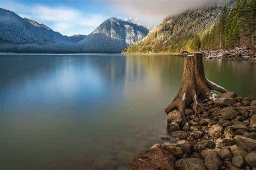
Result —
<path fill-rule="evenodd" d="M 218 170 L 221 167 L 221 160 L 217 152 L 210 152 L 205 157 L 205 165 L 208 170 Z"/>

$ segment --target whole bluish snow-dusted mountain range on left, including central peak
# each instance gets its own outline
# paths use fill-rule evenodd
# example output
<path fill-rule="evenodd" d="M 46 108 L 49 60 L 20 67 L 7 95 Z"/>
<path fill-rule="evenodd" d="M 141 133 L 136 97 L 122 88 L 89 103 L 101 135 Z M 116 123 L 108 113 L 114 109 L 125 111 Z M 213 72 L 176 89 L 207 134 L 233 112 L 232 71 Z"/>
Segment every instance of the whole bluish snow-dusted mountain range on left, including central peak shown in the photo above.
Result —
<path fill-rule="evenodd" d="M 0 52 L 121 52 L 148 32 L 143 26 L 110 18 L 88 36 L 68 37 L 0 8 Z"/>

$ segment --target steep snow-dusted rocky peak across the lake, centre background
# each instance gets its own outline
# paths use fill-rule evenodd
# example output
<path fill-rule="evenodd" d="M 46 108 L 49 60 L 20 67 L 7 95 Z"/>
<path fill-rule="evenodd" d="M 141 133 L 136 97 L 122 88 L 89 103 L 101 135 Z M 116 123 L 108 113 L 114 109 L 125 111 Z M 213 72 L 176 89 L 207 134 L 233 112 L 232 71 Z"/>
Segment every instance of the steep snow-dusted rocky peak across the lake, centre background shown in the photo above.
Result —
<path fill-rule="evenodd" d="M 89 52 L 121 52 L 143 39 L 149 30 L 144 26 L 118 18 L 109 18 L 90 35 L 81 40 L 83 50 Z"/>

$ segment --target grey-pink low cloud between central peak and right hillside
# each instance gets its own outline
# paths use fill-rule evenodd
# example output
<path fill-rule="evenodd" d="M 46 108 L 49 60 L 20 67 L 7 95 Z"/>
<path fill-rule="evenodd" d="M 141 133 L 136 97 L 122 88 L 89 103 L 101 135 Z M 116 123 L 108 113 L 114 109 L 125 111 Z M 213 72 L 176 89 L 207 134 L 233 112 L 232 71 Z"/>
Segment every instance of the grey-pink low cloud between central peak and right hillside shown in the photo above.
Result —
<path fill-rule="evenodd" d="M 165 17 L 203 5 L 220 4 L 228 0 L 109 0 L 117 11 L 154 26 Z"/>

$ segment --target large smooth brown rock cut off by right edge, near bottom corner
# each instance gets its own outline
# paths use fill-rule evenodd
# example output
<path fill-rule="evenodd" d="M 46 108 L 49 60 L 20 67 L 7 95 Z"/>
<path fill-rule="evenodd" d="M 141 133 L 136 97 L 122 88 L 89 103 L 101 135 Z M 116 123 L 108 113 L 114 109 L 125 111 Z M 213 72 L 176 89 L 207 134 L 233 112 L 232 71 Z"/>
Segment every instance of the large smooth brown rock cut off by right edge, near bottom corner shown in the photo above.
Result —
<path fill-rule="evenodd" d="M 234 141 L 238 147 L 241 147 L 247 152 L 252 152 L 256 150 L 256 140 L 251 138 L 242 137 L 240 135 L 236 135 L 234 137 Z"/>

